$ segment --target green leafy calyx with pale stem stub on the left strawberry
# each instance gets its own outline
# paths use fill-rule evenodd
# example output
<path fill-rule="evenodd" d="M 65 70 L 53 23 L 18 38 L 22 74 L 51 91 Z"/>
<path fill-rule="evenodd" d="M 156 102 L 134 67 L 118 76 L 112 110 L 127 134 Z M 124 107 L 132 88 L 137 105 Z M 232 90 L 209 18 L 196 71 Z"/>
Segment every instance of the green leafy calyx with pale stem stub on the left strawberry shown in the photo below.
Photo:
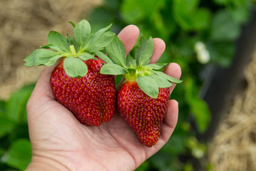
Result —
<path fill-rule="evenodd" d="M 95 59 L 95 56 L 102 58 L 107 63 L 109 58 L 101 51 L 109 45 L 114 37 L 114 33 L 107 31 L 110 26 L 100 29 L 96 33 L 91 33 L 88 21 L 83 19 L 74 24 L 74 38 L 63 36 L 57 31 L 48 33 L 48 44 L 36 49 L 28 55 L 24 61 L 26 66 L 52 66 L 59 58 L 65 58 L 63 67 L 68 76 L 78 78 L 85 76 L 87 66 L 83 61 Z"/>

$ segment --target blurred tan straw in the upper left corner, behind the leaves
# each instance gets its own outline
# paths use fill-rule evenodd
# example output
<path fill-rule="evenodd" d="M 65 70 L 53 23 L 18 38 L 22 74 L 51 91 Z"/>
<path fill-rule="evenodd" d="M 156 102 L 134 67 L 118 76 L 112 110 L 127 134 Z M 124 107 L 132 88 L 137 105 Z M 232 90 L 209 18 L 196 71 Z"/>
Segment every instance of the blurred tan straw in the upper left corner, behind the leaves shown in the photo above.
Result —
<path fill-rule="evenodd" d="M 42 67 L 23 66 L 23 58 L 47 44 L 55 30 L 72 36 L 73 27 L 102 0 L 1 0 L 0 1 L 0 99 L 26 83 L 36 81 Z"/>

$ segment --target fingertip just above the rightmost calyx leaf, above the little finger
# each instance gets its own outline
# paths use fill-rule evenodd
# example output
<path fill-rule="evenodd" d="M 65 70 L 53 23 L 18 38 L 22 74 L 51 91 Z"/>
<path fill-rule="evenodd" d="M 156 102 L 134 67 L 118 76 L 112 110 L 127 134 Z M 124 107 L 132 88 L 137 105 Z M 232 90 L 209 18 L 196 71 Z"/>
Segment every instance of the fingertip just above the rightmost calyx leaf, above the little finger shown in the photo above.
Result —
<path fill-rule="evenodd" d="M 168 66 L 164 69 L 164 73 L 167 75 L 179 79 L 181 77 L 181 67 L 177 63 L 169 63 Z M 171 92 L 174 90 L 176 84 L 173 83 L 171 86 Z"/>

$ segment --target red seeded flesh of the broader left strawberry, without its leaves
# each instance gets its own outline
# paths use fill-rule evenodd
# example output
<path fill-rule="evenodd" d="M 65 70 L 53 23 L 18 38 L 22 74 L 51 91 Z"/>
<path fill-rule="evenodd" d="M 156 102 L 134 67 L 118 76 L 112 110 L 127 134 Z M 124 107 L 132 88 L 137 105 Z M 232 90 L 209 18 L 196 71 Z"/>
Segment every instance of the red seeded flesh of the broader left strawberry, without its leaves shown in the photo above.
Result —
<path fill-rule="evenodd" d="M 50 85 L 58 102 L 63 104 L 81 123 L 98 126 L 114 115 L 114 76 L 100 74 L 101 59 L 85 61 L 88 72 L 81 78 L 67 76 L 63 61 L 53 70 Z"/>

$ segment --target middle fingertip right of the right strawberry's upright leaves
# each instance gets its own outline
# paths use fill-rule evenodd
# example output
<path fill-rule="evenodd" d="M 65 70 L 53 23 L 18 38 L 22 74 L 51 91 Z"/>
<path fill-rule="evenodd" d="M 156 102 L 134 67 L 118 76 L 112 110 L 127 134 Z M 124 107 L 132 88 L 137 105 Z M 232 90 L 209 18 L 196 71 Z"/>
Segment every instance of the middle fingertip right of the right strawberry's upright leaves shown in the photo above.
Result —
<path fill-rule="evenodd" d="M 153 38 L 154 41 L 154 51 L 151 56 L 151 62 L 150 63 L 156 63 L 159 61 L 159 58 L 164 53 L 164 50 L 166 48 L 166 44 L 161 38 Z"/>

